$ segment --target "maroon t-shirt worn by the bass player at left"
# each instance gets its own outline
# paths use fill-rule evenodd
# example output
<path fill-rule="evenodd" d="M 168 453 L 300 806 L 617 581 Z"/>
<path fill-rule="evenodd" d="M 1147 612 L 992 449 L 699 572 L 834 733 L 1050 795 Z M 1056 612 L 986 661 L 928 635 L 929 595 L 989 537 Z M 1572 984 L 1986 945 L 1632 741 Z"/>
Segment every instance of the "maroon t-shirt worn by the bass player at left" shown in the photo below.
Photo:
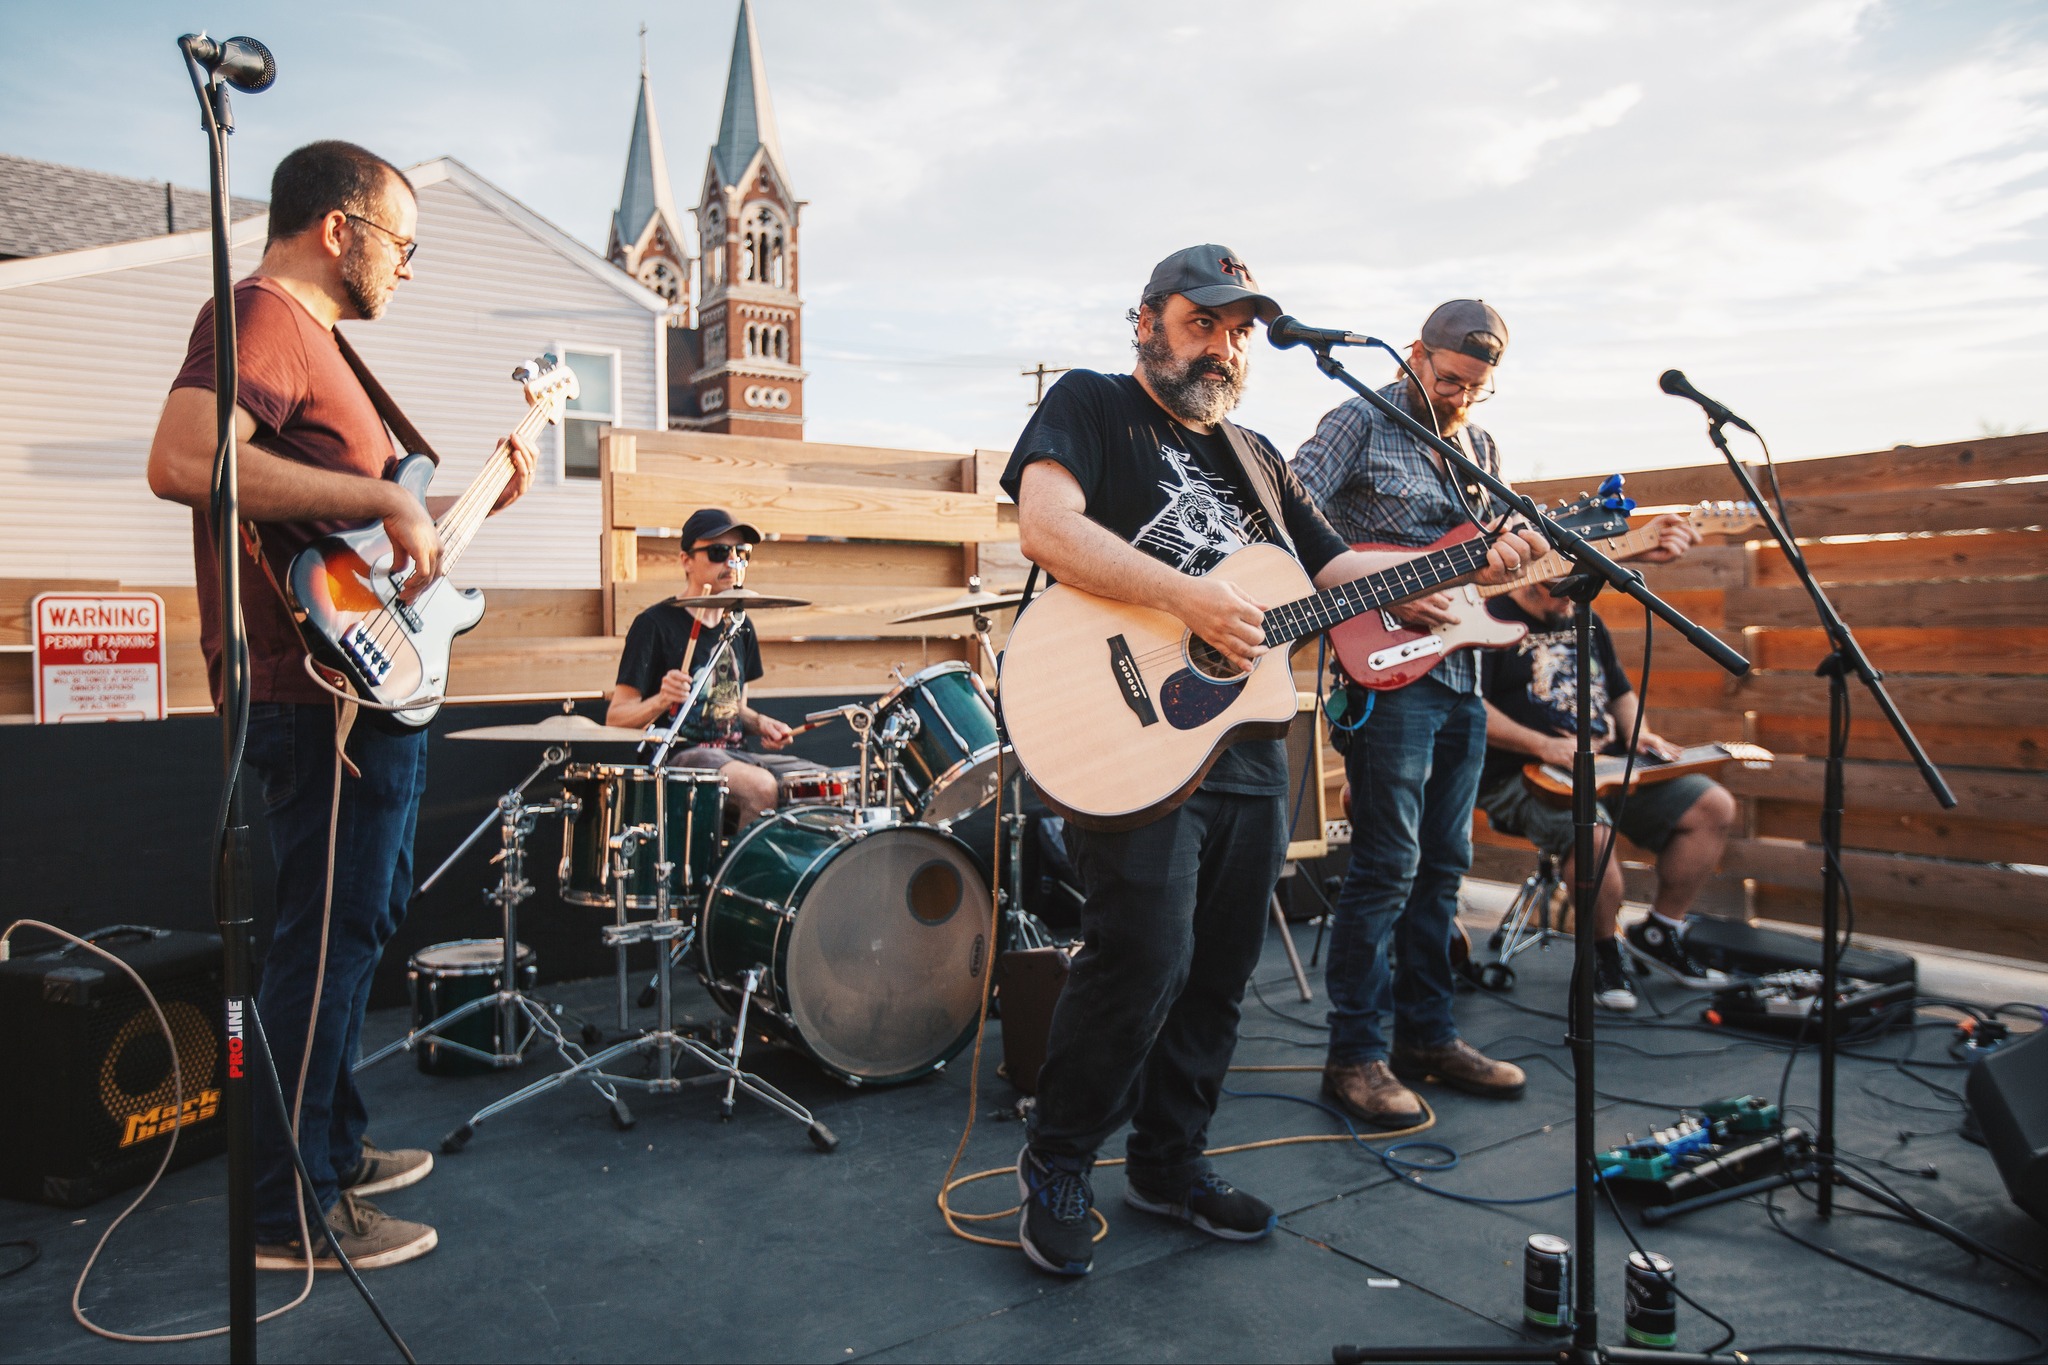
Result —
<path fill-rule="evenodd" d="M 334 332 L 274 280 L 260 274 L 236 284 L 240 385 L 236 401 L 256 420 L 256 440 L 270 454 L 317 469 L 383 479 L 397 465 L 391 436 L 362 381 L 342 360 Z M 213 301 L 199 309 L 184 368 L 172 389 L 213 391 Z M 270 575 L 242 553 L 242 620 L 250 636 L 250 694 L 258 702 L 326 702 L 305 675 L 305 645 L 279 598 L 293 555 L 344 522 L 262 522 Z M 221 702 L 221 573 L 213 553 L 213 518 L 193 512 L 193 563 L 199 571 L 199 645 L 207 653 L 213 704 Z"/>

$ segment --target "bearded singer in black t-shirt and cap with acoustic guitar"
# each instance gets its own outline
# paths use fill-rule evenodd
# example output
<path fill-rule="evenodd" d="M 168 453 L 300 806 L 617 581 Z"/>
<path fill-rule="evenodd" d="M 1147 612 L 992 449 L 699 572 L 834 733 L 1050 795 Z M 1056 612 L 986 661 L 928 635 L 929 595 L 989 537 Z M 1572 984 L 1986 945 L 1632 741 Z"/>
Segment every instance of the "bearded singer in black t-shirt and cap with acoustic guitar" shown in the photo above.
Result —
<path fill-rule="evenodd" d="M 1227 726 L 1231 708 L 1274 686 L 1286 694 L 1282 722 L 1294 712 L 1286 649 L 1268 639 L 1298 630 L 1274 634 L 1266 614 L 1288 600 L 1262 602 L 1233 565 L 1262 563 L 1262 581 L 1292 579 L 1286 591 L 1307 591 L 1311 575 L 1331 589 L 1382 567 L 1337 538 L 1266 438 L 1227 420 L 1255 323 L 1278 315 L 1233 252 L 1176 252 L 1130 313 L 1135 372 L 1067 372 L 1001 479 L 1024 555 L 1059 583 L 1018 616 L 1004 716 L 1049 802 L 1061 784 L 1032 763 L 1073 759 L 1079 772 L 1061 790 L 1085 890 L 1083 945 L 1053 1011 L 1018 1158 L 1020 1242 L 1057 1275 L 1094 1265 L 1090 1171 L 1124 1121 L 1126 1203 L 1225 1240 L 1274 1228 L 1266 1201 L 1208 1166 L 1204 1142 L 1286 851 L 1286 753 L 1264 737 L 1264 712 L 1237 733 L 1251 739 L 1229 745 L 1225 731 L 1221 753 L 1204 726 Z M 1507 577 L 1542 551 L 1534 536 L 1505 536 L 1462 573 Z M 1061 634 L 1044 622 L 1073 624 Z M 1167 636 L 1176 643 L 1151 643 Z M 1180 659 L 1202 675 L 1188 677 Z M 1047 714 L 1061 677 L 1073 702 L 1065 733 Z M 1104 769 L 1102 751 L 1120 772 Z M 1169 772 L 1149 786 L 1159 767 Z M 1120 786 L 1124 774 L 1133 782 Z"/>

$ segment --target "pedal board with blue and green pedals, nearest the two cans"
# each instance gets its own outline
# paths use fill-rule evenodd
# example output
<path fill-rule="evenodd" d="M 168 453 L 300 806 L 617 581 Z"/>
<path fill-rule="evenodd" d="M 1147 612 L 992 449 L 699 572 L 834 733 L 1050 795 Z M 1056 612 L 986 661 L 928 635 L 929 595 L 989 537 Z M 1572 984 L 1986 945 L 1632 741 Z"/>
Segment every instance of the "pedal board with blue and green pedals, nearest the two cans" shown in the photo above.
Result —
<path fill-rule="evenodd" d="M 1737 1095 L 1700 1105 L 1669 1128 L 1630 1134 L 1595 1160 L 1599 1179 L 1636 1203 L 1677 1203 L 1784 1171 L 1808 1138 L 1780 1124 L 1778 1105 Z"/>

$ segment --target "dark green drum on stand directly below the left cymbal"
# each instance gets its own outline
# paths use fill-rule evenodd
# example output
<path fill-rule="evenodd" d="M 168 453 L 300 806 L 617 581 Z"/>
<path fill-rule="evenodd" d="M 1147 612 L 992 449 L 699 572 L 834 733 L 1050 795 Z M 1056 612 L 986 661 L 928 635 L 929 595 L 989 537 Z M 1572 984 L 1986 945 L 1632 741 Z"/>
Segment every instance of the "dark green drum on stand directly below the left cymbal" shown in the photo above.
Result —
<path fill-rule="evenodd" d="M 668 792 L 668 878 L 672 905 L 692 900 L 719 868 L 719 835 L 725 823 L 725 778 L 702 767 L 643 767 L 621 763 L 569 763 L 561 769 L 561 790 L 580 808 L 561 819 L 561 898 L 569 905 L 610 907 L 612 835 L 635 825 L 653 825 L 655 782 Z M 655 909 L 653 868 L 662 860 L 655 841 L 633 849 L 627 870 L 627 909 Z"/>

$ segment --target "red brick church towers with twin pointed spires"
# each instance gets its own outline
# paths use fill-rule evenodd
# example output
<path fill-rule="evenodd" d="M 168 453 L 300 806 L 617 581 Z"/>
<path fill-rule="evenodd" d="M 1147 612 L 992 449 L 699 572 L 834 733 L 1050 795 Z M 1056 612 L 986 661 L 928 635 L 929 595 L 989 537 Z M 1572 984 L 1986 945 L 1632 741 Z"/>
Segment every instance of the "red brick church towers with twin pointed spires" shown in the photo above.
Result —
<path fill-rule="evenodd" d="M 803 440 L 801 211 L 776 137 L 752 0 L 739 0 L 719 139 L 688 225 L 670 194 L 641 55 L 627 178 L 606 256 L 674 305 L 670 428 Z"/>

